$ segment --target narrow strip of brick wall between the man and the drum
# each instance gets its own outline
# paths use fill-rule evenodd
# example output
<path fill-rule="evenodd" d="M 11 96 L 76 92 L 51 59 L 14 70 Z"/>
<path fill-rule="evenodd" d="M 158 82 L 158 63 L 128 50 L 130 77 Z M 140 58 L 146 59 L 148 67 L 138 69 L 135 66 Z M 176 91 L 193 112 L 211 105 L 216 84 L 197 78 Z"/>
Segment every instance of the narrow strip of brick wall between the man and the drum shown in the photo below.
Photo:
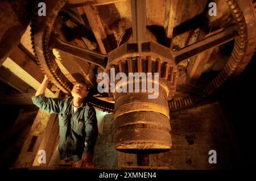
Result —
<path fill-rule="evenodd" d="M 96 169 L 117 169 L 118 151 L 114 148 L 114 115 L 104 117 L 103 133 L 98 135 L 93 157 Z"/>

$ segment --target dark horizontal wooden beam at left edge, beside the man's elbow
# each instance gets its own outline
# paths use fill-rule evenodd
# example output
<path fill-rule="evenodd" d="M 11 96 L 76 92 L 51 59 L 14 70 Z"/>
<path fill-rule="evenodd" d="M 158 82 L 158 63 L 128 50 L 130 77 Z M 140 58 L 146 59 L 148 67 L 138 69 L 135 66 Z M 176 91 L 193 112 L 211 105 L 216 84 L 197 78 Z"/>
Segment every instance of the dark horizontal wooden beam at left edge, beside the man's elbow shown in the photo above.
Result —
<path fill-rule="evenodd" d="M 33 105 L 32 96 L 35 92 L 0 96 L 0 105 Z"/>

